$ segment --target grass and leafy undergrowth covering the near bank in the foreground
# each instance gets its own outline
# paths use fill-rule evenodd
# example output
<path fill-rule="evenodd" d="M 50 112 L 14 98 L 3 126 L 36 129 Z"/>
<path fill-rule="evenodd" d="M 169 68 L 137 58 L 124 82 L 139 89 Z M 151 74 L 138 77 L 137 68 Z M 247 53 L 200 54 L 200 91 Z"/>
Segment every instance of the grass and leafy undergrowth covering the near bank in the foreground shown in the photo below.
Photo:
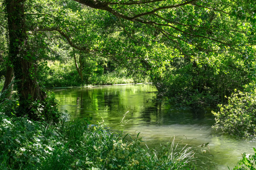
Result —
<path fill-rule="evenodd" d="M 174 140 L 159 152 L 143 149 L 138 136 L 128 142 L 87 119 L 53 125 L 0 116 L 1 169 L 195 169 L 202 155 Z"/>

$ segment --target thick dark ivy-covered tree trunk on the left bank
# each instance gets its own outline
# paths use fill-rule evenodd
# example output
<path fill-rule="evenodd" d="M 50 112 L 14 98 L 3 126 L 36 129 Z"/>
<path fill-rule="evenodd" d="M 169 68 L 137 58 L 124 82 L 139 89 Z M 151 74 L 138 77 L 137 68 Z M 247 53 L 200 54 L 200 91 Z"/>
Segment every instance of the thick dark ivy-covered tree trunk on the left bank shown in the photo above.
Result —
<path fill-rule="evenodd" d="M 18 116 L 29 114 L 30 102 L 44 100 L 43 92 L 35 77 L 35 57 L 29 53 L 25 25 L 24 3 L 26 0 L 5 0 L 9 31 L 9 59 L 13 65 L 20 97 Z"/>

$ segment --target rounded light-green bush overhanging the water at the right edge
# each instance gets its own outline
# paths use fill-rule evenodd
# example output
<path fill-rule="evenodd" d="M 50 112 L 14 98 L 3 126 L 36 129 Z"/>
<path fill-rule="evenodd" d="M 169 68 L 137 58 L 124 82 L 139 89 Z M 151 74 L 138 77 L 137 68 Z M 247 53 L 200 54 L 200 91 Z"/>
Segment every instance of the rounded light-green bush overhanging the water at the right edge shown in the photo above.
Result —
<path fill-rule="evenodd" d="M 256 134 L 256 95 L 255 91 L 236 91 L 225 105 L 219 104 L 220 111 L 215 115 L 213 128 L 231 135 L 248 137 Z"/>

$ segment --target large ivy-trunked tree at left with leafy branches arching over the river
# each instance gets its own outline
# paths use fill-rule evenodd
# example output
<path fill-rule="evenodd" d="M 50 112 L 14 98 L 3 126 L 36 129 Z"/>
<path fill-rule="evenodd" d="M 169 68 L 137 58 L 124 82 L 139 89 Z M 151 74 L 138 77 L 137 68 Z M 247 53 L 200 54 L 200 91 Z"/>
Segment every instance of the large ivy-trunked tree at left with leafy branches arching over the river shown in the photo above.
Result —
<path fill-rule="evenodd" d="M 126 65 L 136 68 L 133 69 L 135 72 L 142 74 L 147 72 L 153 80 L 161 81 L 161 74 L 171 58 L 178 55 L 199 64 L 205 61 L 205 58 L 229 53 L 246 61 L 246 57 L 249 56 L 250 61 L 248 61 L 254 65 L 251 62 L 254 58 L 253 43 L 250 42 L 255 36 L 253 34 L 255 28 L 247 21 L 253 22 L 255 13 L 236 8 L 239 2 L 228 0 L 218 0 L 214 3 L 197 0 L 186 2 L 76 0 L 76 2 L 114 15 L 129 38 L 113 43 L 108 34 L 104 35 L 107 41 L 102 41 L 102 37 L 90 39 L 86 34 L 74 34 L 77 30 L 81 32 L 86 30 L 79 25 L 83 17 L 79 16 L 78 10 L 67 13 L 68 9 L 64 1 L 59 4 L 63 8 L 49 8 L 54 2 L 49 1 L 50 5 L 47 7 L 43 5 L 44 2 L 40 2 L 42 6 L 38 7 L 33 5 L 37 2 L 29 0 L 5 0 L 9 60 L 14 68 L 14 76 L 20 80 L 17 83 L 20 95 L 19 115 L 29 112 L 28 101 L 42 101 L 45 98 L 45 93 L 36 80 L 38 56 L 45 55 L 42 49 L 47 48 L 42 40 L 44 37 L 42 32 L 58 32 L 72 48 L 92 55 L 120 59 Z M 215 3 L 219 5 L 218 8 Z M 79 6 L 76 3 L 72 5 L 74 8 Z M 243 18 L 244 15 L 248 15 L 247 18 Z M 237 16 L 238 19 L 233 16 Z M 79 22 L 76 22 L 76 19 Z M 241 31 L 238 26 L 243 22 L 249 24 Z M 250 35 L 247 34 L 248 30 Z M 121 50 L 122 48 L 125 50 Z M 248 49 L 251 49 L 250 54 Z"/>

